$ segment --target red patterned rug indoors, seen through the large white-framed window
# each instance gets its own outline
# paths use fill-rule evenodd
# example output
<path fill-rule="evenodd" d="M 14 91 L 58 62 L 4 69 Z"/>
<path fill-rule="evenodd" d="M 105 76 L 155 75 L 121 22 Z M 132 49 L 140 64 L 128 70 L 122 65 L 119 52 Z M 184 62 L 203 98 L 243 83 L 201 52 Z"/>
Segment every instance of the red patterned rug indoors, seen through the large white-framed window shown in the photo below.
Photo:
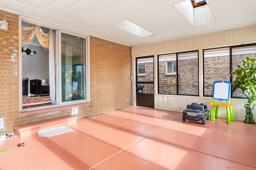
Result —
<path fill-rule="evenodd" d="M 28 97 L 22 98 L 22 106 L 31 106 L 31 105 L 38 105 L 38 104 L 47 104 L 51 103 L 50 96 L 39 96 L 39 97 Z"/>

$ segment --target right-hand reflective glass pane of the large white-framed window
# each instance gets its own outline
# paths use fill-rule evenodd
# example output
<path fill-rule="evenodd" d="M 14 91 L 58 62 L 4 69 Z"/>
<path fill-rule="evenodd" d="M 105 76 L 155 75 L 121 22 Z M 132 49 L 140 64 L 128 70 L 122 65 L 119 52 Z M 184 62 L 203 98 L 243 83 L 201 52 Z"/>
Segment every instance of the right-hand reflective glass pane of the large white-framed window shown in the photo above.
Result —
<path fill-rule="evenodd" d="M 85 99 L 84 69 L 85 69 L 86 39 L 61 33 L 61 63 L 62 69 L 62 102 Z"/>

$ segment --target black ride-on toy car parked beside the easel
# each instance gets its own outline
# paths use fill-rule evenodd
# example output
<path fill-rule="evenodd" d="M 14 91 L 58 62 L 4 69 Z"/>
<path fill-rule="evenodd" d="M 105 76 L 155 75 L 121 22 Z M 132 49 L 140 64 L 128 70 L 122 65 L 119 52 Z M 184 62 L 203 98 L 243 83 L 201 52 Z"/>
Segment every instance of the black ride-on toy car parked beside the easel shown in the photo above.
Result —
<path fill-rule="evenodd" d="M 205 121 L 209 119 L 209 109 L 207 105 L 203 103 L 192 103 L 188 104 L 187 108 L 183 110 L 182 113 L 182 121 L 192 120 L 192 121 L 200 121 L 202 120 L 202 124 L 205 124 Z"/>

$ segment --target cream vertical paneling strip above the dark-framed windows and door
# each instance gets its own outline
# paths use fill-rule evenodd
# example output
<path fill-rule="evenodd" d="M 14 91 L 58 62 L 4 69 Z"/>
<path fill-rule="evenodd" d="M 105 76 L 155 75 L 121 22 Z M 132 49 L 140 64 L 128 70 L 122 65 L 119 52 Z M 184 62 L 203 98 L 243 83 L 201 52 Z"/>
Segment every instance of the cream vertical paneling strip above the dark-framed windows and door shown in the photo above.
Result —
<path fill-rule="evenodd" d="M 133 56 L 170 53 L 256 41 L 256 26 L 132 47 Z M 192 43 L 191 43 L 192 42 Z"/>

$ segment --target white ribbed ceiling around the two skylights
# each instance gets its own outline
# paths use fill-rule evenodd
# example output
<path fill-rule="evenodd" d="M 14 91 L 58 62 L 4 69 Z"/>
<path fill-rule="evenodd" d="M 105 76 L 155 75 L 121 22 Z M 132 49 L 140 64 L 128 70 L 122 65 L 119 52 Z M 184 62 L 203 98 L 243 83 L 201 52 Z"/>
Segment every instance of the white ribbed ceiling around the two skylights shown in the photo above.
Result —
<path fill-rule="evenodd" d="M 184 0 L 0 0 L 0 9 L 128 46 L 256 25 L 256 0 L 206 0 L 216 23 L 198 27 L 192 27 L 174 8 L 173 4 L 182 1 Z M 156 36 L 140 38 L 110 25 L 125 19 Z"/>

